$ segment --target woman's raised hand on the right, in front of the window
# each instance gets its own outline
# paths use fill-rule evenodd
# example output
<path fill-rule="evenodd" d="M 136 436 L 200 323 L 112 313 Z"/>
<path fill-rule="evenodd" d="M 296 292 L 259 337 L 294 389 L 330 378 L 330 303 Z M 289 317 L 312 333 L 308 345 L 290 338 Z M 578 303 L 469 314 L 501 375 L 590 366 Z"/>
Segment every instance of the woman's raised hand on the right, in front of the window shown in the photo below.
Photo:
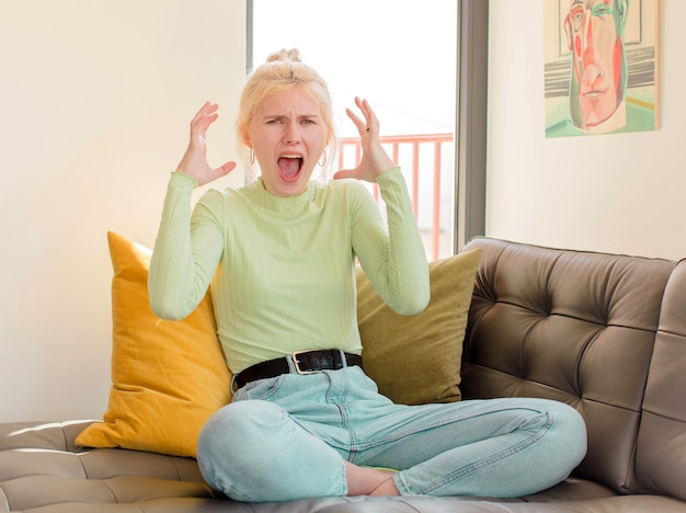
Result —
<path fill-rule="evenodd" d="M 365 117 L 363 122 L 353 111 L 346 109 L 347 116 L 359 132 L 362 159 L 355 169 L 343 169 L 333 174 L 334 180 L 354 178 L 376 182 L 376 178 L 396 164 L 379 141 L 379 121 L 366 100 L 355 99 L 355 104 Z"/>

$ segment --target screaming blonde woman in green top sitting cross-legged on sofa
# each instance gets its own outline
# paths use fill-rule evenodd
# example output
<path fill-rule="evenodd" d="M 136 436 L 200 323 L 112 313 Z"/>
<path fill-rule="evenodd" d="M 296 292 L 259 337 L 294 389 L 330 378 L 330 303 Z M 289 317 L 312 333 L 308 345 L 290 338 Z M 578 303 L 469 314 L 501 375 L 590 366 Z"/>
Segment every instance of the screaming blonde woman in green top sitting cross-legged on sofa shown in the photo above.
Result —
<path fill-rule="evenodd" d="M 206 103 L 172 173 L 150 264 L 155 311 L 188 315 L 211 282 L 219 340 L 236 376 L 231 404 L 205 425 L 207 482 L 249 502 L 327 495 L 517 497 L 562 480 L 585 453 L 570 407 L 507 399 L 407 407 L 377 392 L 362 368 L 354 259 L 386 303 L 412 315 L 428 275 L 407 187 L 379 142 L 369 104 L 347 115 L 362 159 L 333 181 L 310 180 L 335 137 L 325 82 L 297 50 L 270 57 L 248 80 L 238 135 L 261 178 L 207 192 L 229 173 L 209 167 Z M 341 180 L 346 179 L 346 180 Z M 376 182 L 388 228 L 357 181 Z M 390 467 L 399 471 L 385 470 Z"/>

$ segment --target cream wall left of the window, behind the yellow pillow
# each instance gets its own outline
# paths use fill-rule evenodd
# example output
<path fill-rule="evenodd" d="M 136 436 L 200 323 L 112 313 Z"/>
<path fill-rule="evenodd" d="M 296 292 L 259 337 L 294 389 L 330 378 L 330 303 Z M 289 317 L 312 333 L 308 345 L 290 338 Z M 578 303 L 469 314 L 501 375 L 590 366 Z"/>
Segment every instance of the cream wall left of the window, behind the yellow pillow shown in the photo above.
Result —
<path fill-rule="evenodd" d="M 106 231 L 153 243 L 205 100 L 224 105 L 210 160 L 233 157 L 244 2 L 0 0 L 0 422 L 100 418 Z"/>

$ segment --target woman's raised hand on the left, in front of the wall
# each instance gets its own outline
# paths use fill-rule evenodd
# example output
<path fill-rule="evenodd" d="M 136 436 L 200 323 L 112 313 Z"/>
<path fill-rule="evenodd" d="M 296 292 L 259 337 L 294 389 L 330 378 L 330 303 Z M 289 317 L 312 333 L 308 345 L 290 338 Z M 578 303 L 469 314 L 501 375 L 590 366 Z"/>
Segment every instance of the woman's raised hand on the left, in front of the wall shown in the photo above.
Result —
<path fill-rule="evenodd" d="M 199 185 L 229 174 L 236 162 L 229 161 L 219 168 L 213 169 L 207 162 L 207 129 L 217 117 L 219 105 L 206 102 L 191 122 L 191 140 L 176 171 L 186 174 Z"/>

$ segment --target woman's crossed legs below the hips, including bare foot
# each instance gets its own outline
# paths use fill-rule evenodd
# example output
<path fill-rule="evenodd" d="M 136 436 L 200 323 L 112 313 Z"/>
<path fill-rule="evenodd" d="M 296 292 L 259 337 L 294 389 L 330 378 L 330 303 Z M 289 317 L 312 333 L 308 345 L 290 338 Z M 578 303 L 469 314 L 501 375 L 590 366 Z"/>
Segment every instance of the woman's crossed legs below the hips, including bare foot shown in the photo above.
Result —
<path fill-rule="evenodd" d="M 203 430 L 201 469 L 213 487 L 248 502 L 398 493 L 518 497 L 564 479 L 585 453 L 583 421 L 553 401 L 379 408 L 377 420 L 367 419 L 355 431 L 356 442 L 343 448 L 324 442 L 329 431 L 320 436 L 311 421 L 273 402 L 236 402 Z"/>

